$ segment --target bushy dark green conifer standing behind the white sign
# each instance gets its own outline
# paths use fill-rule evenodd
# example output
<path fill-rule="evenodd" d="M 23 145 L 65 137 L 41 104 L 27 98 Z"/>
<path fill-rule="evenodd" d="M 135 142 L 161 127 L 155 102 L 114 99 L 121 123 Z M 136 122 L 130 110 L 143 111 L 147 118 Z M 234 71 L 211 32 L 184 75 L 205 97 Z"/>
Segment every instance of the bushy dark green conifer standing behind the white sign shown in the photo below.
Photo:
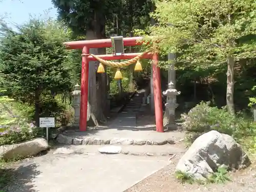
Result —
<path fill-rule="evenodd" d="M 38 124 L 38 115 L 45 113 L 47 103 L 53 104 L 53 95 L 65 97 L 74 84 L 73 55 L 63 45 L 70 31 L 51 19 L 32 19 L 18 32 L 2 25 L 1 31 L 0 87 L 16 101 L 36 104 Z"/>

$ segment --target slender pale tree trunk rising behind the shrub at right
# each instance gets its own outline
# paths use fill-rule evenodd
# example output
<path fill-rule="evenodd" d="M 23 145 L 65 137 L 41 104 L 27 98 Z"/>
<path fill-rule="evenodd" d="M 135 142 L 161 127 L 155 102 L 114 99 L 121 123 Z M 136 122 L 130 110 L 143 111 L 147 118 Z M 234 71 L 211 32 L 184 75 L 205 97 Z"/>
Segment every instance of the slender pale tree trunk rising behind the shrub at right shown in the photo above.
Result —
<path fill-rule="evenodd" d="M 227 110 L 234 114 L 234 57 L 227 58 Z"/>

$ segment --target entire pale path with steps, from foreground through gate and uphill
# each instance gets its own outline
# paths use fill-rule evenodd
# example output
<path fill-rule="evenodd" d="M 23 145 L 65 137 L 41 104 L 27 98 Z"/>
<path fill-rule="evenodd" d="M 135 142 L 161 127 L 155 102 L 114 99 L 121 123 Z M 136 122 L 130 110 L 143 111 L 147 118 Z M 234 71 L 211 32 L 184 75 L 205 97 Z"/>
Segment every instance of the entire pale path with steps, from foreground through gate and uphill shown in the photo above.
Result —
<path fill-rule="evenodd" d="M 108 127 L 55 135 L 59 145 L 45 156 L 17 164 L 15 182 L 4 191 L 123 192 L 168 165 L 170 159 L 179 159 L 185 152 L 183 133 L 157 133 L 154 121 L 143 124 L 143 118 L 136 126 L 142 96 L 136 94 Z M 118 154 L 99 153 L 104 146 L 118 149 Z"/>

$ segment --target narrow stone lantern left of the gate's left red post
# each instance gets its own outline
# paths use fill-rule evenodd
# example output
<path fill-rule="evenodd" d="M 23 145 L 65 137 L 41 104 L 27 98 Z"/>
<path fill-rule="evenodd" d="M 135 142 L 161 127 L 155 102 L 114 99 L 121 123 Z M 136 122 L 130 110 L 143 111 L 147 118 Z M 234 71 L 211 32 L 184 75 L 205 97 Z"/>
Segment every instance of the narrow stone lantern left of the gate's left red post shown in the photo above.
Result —
<path fill-rule="evenodd" d="M 81 91 L 79 84 L 75 85 L 75 89 L 72 92 L 73 97 L 73 108 L 75 111 L 74 114 L 74 126 L 79 126 L 79 120 L 80 120 L 80 97 L 81 97 Z"/>

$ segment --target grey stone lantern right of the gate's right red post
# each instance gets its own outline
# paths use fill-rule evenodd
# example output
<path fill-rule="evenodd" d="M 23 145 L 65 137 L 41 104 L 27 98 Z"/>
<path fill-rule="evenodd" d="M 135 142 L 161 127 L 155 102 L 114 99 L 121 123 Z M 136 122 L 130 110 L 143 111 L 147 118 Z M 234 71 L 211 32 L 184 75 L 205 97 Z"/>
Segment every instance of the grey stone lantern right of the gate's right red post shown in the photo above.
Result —
<path fill-rule="evenodd" d="M 176 96 L 180 95 L 180 91 L 175 89 L 175 85 L 172 81 L 168 83 L 168 89 L 163 92 L 163 95 L 166 96 L 166 103 L 165 103 L 165 117 L 164 125 L 166 127 L 176 127 L 175 123 L 175 110 L 179 106 L 176 103 Z"/>

